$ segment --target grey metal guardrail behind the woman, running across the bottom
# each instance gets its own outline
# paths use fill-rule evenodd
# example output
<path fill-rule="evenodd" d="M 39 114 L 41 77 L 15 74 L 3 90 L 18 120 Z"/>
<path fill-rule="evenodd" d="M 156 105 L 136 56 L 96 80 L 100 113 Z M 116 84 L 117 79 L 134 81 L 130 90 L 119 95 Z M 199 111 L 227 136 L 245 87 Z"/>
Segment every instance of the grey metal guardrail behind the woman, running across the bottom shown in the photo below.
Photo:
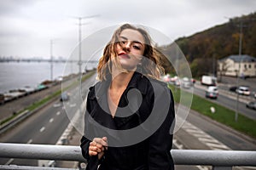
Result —
<path fill-rule="evenodd" d="M 0 157 L 84 162 L 79 146 L 51 144 L 0 143 Z M 213 170 L 231 170 L 234 166 L 256 167 L 256 151 L 241 150 L 172 150 L 176 165 L 205 165 Z M 0 165 L 0 169 L 49 169 Z M 50 167 L 50 169 L 64 169 Z M 67 168 L 66 168 L 67 169 Z M 71 169 L 71 168 L 69 168 Z"/>

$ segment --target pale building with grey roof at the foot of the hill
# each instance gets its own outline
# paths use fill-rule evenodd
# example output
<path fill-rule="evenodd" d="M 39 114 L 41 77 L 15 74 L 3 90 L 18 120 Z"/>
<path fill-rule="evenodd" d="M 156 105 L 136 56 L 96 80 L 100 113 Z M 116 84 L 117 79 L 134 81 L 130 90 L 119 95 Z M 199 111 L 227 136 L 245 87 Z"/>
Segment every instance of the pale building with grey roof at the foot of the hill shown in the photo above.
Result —
<path fill-rule="evenodd" d="M 218 59 L 218 76 L 256 77 L 256 58 L 244 54 Z"/>

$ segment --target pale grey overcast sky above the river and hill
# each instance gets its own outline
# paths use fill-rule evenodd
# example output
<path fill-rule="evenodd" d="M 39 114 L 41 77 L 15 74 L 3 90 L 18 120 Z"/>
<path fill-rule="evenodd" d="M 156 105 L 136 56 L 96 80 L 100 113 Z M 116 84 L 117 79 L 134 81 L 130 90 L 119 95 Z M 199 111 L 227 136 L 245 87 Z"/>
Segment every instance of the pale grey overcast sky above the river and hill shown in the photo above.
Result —
<path fill-rule="evenodd" d="M 79 42 L 73 17 L 97 15 L 83 20 L 83 38 L 128 22 L 174 41 L 255 11 L 255 0 L 1 0 L 0 57 L 49 58 L 53 39 L 53 55 L 68 58 Z"/>

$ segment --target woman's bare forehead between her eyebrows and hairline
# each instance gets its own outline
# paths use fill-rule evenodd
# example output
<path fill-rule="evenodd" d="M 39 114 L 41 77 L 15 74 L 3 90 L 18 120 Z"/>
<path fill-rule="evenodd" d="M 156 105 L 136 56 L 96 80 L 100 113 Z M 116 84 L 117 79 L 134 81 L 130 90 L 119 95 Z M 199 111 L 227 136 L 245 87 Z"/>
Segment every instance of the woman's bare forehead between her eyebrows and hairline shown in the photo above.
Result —
<path fill-rule="evenodd" d="M 133 42 L 145 43 L 142 33 L 137 30 L 125 29 L 121 31 L 119 37 L 126 38 L 127 40 L 133 41 Z"/>

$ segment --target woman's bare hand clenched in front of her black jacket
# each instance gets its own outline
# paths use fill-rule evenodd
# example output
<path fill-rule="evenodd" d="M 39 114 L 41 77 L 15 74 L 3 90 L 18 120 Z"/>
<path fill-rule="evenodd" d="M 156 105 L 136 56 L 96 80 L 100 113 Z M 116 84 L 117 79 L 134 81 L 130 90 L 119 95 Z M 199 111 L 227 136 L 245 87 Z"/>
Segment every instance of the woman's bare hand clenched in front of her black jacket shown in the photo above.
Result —
<path fill-rule="evenodd" d="M 101 159 L 104 155 L 104 150 L 108 150 L 107 137 L 95 138 L 90 142 L 89 145 L 89 156 L 96 156 Z"/>

